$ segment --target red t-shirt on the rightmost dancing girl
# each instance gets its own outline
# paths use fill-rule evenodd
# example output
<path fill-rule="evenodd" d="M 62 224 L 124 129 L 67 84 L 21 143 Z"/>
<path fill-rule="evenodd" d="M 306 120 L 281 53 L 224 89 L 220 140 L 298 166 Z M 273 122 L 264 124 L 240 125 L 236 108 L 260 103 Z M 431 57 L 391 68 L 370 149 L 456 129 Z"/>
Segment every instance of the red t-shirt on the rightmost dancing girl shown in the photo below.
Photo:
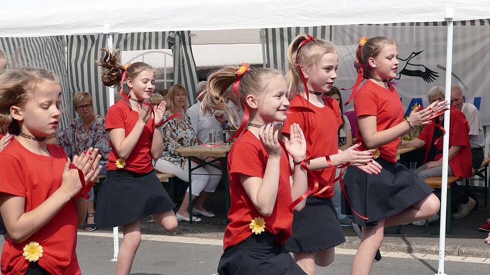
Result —
<path fill-rule="evenodd" d="M 361 115 L 375 115 L 377 131 L 389 129 L 401 122 L 403 118 L 403 105 L 401 105 L 398 92 L 393 86 L 389 88 L 381 87 L 378 84 L 367 80 L 354 96 L 354 108 L 356 117 Z M 367 150 L 364 144 L 362 133 L 356 134 L 356 142 L 362 142 L 360 150 Z M 399 138 L 396 138 L 379 148 L 379 157 L 396 163 L 396 151 L 398 150 Z"/>

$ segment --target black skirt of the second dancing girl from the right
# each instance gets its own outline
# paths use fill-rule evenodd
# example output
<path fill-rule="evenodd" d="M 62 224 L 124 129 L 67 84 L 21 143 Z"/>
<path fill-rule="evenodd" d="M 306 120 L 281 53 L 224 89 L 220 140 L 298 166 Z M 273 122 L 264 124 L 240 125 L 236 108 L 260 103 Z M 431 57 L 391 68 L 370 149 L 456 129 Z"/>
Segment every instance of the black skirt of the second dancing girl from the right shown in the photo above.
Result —
<path fill-rule="evenodd" d="M 292 235 L 284 243 L 289 252 L 314 252 L 345 241 L 331 198 L 308 196 L 301 211 L 295 211 Z"/>

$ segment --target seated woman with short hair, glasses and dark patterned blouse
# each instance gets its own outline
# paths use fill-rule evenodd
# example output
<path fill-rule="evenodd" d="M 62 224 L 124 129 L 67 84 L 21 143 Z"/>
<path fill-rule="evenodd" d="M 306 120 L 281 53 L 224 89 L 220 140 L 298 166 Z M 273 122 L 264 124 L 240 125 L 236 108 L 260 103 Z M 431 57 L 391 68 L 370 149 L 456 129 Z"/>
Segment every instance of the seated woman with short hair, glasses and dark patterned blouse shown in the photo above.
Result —
<path fill-rule="evenodd" d="M 97 148 L 101 155 L 99 164 L 102 170 L 99 174 L 105 174 L 105 164 L 109 154 L 109 134 L 105 131 L 105 119 L 93 113 L 92 96 L 88 92 L 77 92 L 73 96 L 73 108 L 79 117 L 73 119 L 71 123 L 62 131 L 56 134 L 55 138 L 48 140 L 48 143 L 58 144 L 63 147 L 70 159 L 73 155 L 80 155 L 90 147 Z M 93 200 L 95 195 L 93 187 L 88 192 L 90 198 L 87 200 L 87 227 L 85 231 L 95 230 L 95 208 Z"/>

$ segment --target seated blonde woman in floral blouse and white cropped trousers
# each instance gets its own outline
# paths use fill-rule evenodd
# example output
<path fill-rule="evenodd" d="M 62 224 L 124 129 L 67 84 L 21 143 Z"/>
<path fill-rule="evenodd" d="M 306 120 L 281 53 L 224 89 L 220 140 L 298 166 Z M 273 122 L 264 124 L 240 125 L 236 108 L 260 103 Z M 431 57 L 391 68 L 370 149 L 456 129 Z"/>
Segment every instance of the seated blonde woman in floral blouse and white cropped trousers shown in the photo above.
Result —
<path fill-rule="evenodd" d="M 162 173 L 171 173 L 184 181 L 189 181 L 188 165 L 197 166 L 197 163 L 191 161 L 189 164 L 185 157 L 178 155 L 175 149 L 197 145 L 192 122 L 190 117 L 185 113 L 187 109 L 187 91 L 182 85 L 174 84 L 168 89 L 166 100 L 166 112 L 163 120 L 167 117 L 180 112 L 180 115 L 170 119 L 162 126 L 163 136 L 163 153 L 156 160 L 154 168 Z M 214 214 L 204 208 L 204 202 L 209 193 L 214 192 L 221 179 L 221 170 L 206 165 L 194 170 L 191 178 L 192 183 L 192 200 L 198 196 L 197 201 L 192 209 L 192 214 L 205 217 L 212 217 Z M 185 192 L 182 204 L 177 210 L 175 216 L 177 220 L 189 221 L 189 193 Z M 201 219 L 192 216 L 192 221 Z"/>

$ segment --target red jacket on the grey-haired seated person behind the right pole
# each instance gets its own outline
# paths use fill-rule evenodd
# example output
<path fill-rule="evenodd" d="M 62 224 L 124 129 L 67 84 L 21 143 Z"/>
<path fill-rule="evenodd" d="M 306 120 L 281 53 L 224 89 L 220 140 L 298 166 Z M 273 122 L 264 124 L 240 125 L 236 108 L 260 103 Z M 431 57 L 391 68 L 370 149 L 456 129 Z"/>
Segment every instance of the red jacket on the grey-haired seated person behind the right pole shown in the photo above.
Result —
<path fill-rule="evenodd" d="M 455 176 L 469 178 L 471 176 L 471 146 L 469 144 L 469 124 L 466 121 L 464 114 L 458 109 L 450 108 L 450 119 L 449 119 L 449 148 L 452 145 L 460 145 L 461 149 L 457 154 L 449 159 L 449 166 Z M 439 123 L 441 123 L 440 121 Z M 442 126 L 442 123 L 441 123 Z M 418 138 L 425 142 L 425 159 L 427 161 L 439 160 L 442 157 L 442 153 L 436 154 L 434 159 L 428 159 L 428 154 L 430 150 L 430 145 L 432 143 L 432 137 L 434 135 L 435 129 L 435 119 L 432 119 L 432 123 L 425 125 L 418 135 Z M 442 138 L 437 144 L 435 144 L 435 149 L 442 151 Z"/>

